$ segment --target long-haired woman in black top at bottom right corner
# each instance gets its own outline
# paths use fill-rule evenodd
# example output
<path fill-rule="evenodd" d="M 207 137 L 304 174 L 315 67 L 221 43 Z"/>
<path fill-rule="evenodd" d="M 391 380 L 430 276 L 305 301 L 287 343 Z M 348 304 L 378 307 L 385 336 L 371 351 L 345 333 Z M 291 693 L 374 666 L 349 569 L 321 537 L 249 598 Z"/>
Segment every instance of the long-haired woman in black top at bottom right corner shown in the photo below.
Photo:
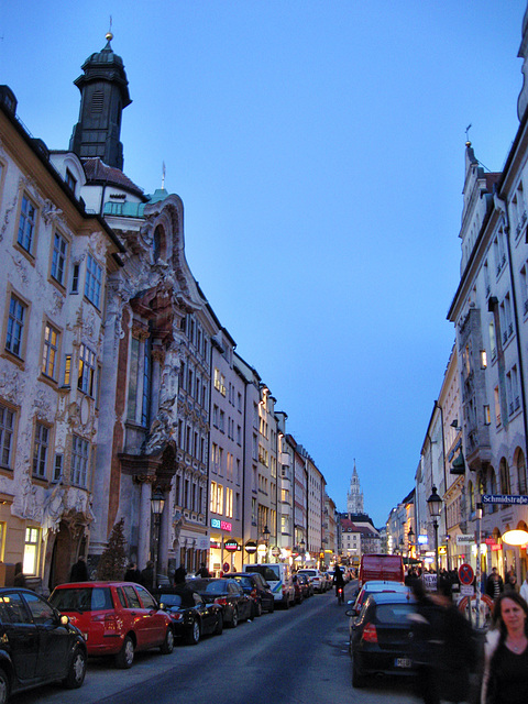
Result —
<path fill-rule="evenodd" d="M 504 592 L 493 608 L 484 646 L 481 704 L 528 701 L 528 604 L 517 592 Z"/>

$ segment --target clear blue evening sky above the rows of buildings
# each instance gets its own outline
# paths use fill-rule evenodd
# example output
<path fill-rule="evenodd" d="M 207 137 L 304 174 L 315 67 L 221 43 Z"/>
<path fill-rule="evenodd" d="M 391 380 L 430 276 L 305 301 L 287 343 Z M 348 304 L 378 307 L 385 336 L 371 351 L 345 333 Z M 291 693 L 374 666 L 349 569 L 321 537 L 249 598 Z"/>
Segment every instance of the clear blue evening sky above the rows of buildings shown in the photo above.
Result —
<path fill-rule="evenodd" d="M 465 128 L 498 170 L 525 0 L 4 0 L 0 81 L 51 148 L 124 62 L 124 172 L 185 206 L 187 261 L 344 510 L 413 488 L 454 341 Z"/>

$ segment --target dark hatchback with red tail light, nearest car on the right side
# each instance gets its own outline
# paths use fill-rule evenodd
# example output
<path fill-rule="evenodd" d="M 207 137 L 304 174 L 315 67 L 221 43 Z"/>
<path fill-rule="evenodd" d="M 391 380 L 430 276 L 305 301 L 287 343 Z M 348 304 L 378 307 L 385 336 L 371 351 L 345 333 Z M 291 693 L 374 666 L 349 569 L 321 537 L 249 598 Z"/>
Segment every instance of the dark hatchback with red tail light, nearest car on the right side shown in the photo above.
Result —
<path fill-rule="evenodd" d="M 416 604 L 409 594 L 380 592 L 369 596 L 354 618 L 355 610 L 345 612 L 350 619 L 350 654 L 352 685 L 365 685 L 374 674 L 415 674 L 413 662 L 414 632 L 411 617 Z"/>

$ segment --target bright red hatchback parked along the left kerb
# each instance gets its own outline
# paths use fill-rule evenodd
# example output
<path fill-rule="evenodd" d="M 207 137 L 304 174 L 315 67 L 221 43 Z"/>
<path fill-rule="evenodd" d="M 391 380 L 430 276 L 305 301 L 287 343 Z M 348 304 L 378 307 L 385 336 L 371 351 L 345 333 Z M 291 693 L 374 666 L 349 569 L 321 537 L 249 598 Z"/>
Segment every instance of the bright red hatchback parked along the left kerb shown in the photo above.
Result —
<path fill-rule="evenodd" d="M 50 601 L 82 632 L 89 656 L 114 656 L 118 668 L 132 667 L 140 650 L 160 648 L 168 654 L 174 649 L 170 616 L 140 584 L 59 584 Z"/>

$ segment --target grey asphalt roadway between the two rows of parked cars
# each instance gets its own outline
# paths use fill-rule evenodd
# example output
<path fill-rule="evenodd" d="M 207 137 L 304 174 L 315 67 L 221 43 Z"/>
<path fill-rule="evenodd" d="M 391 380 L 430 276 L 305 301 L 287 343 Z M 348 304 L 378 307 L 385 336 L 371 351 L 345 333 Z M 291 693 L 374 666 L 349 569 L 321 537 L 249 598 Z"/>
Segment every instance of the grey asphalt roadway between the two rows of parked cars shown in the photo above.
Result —
<path fill-rule="evenodd" d="M 346 587 L 348 594 L 352 587 Z M 346 595 L 348 596 L 348 595 Z M 264 614 L 196 647 L 170 656 L 139 654 L 131 670 L 90 660 L 85 685 L 70 692 L 47 686 L 13 698 L 14 704 L 409 704 L 410 684 L 373 682 L 353 690 L 348 654 L 348 618 L 333 592 L 317 594 L 287 612 Z"/>

